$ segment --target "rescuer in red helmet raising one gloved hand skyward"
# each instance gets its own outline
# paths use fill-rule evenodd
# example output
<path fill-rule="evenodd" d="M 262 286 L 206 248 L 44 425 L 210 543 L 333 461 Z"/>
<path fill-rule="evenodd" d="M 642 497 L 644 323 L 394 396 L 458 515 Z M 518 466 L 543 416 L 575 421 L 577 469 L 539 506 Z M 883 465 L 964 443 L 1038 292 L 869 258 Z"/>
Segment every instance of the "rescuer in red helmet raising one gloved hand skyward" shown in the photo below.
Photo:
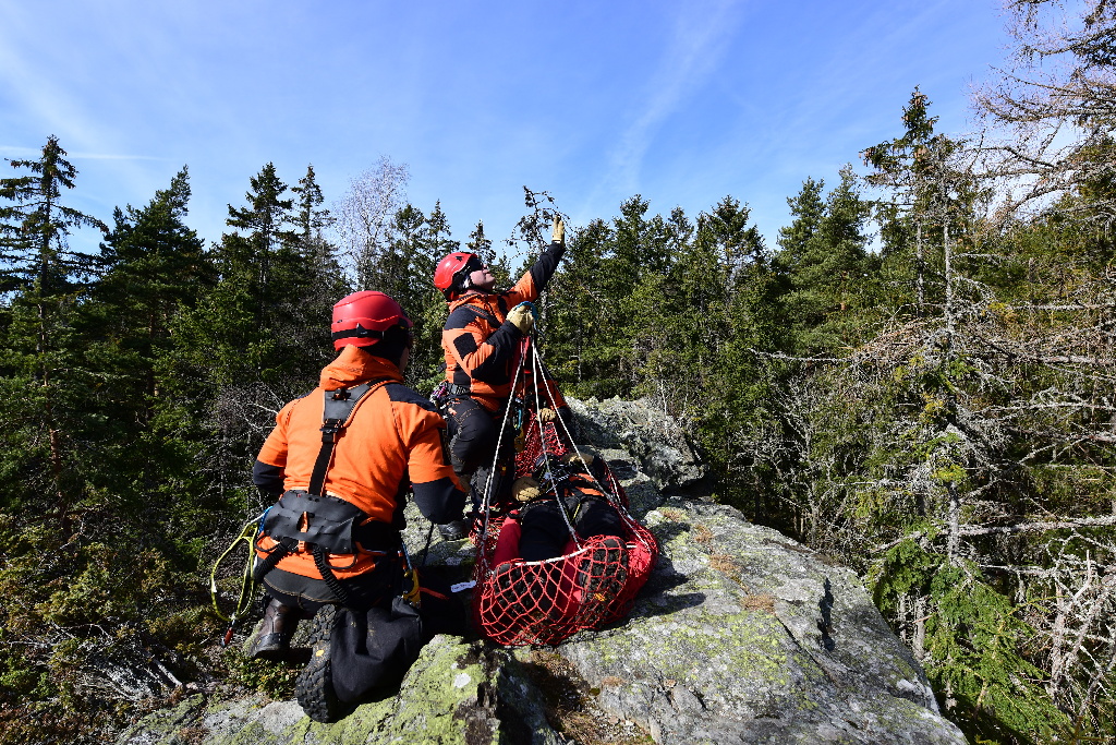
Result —
<path fill-rule="evenodd" d="M 491 464 L 499 436 L 499 418 L 511 394 L 519 341 L 535 324 L 528 303 L 539 297 L 566 251 L 566 228 L 554 219 L 550 245 L 508 290 L 496 290 L 496 278 L 479 256 L 454 251 L 434 271 L 450 316 L 442 329 L 445 381 L 450 385 L 450 456 L 461 484 Z M 560 397 L 555 407 L 562 405 Z M 552 416 L 552 413 L 551 413 Z M 466 520 L 439 525 L 445 538 L 463 537 Z"/>

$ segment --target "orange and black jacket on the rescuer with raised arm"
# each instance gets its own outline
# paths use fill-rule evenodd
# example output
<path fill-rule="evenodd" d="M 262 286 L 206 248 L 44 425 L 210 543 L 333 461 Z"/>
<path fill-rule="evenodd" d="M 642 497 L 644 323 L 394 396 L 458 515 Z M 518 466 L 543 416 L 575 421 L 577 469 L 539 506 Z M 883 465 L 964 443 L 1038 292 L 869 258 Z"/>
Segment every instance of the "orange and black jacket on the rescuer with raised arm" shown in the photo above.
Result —
<path fill-rule="evenodd" d="M 445 380 L 466 388 L 489 411 L 499 411 L 511 394 L 522 338 L 519 328 L 508 322 L 508 311 L 538 299 L 565 250 L 562 243 L 550 243 L 509 290 L 470 292 L 450 302 L 450 317 L 442 329 Z"/>

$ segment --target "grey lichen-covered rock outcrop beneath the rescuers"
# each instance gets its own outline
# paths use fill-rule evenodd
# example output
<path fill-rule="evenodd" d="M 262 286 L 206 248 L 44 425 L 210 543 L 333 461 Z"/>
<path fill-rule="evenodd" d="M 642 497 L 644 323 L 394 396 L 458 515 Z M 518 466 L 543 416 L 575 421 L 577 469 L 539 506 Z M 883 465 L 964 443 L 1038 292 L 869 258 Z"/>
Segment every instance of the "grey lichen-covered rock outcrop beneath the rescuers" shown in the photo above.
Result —
<path fill-rule="evenodd" d="M 730 507 L 677 494 L 701 469 L 667 418 L 615 400 L 573 405 L 662 547 L 623 622 L 552 649 L 437 637 L 397 695 L 333 725 L 311 723 L 294 701 L 200 695 L 119 745 L 965 742 L 853 572 Z M 407 537 L 415 551 L 423 527 Z M 463 542 L 431 551 L 462 573 L 470 557 Z"/>

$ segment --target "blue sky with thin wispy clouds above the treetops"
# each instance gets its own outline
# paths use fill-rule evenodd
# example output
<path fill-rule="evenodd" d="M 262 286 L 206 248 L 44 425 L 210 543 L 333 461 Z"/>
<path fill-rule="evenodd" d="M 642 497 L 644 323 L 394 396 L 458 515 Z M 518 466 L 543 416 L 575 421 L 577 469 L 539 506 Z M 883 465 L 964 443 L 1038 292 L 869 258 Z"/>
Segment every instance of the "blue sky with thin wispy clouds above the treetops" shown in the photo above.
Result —
<path fill-rule="evenodd" d="M 386 155 L 460 240 L 508 236 L 528 185 L 575 225 L 731 194 L 773 243 L 787 197 L 899 134 L 915 85 L 966 130 L 1004 44 L 997 0 L 0 0 L 0 157 L 57 135 L 68 202 L 106 222 L 189 165 L 208 240 L 264 163 L 312 163 L 331 202 Z"/>

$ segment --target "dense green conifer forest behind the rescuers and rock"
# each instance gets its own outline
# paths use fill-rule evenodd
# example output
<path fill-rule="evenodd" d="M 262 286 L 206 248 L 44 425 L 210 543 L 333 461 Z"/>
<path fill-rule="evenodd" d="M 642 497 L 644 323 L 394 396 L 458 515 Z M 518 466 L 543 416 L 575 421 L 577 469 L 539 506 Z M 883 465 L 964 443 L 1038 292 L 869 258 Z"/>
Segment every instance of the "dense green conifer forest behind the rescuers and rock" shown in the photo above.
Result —
<path fill-rule="evenodd" d="M 775 245 L 748 194 L 636 194 L 570 226 L 540 302 L 564 390 L 680 418 L 718 500 L 863 576 L 973 743 L 1116 738 L 1116 4 L 1084 6 L 1010 2 L 977 131 L 914 87 L 892 139 L 802 174 Z M 103 742 L 160 705 L 121 666 L 289 682 L 218 648 L 209 571 L 266 506 L 251 465 L 333 357 L 333 303 L 396 298 L 429 393 L 437 260 L 508 286 L 562 208 L 532 184 L 493 238 L 408 203 L 386 157 L 330 195 L 264 164 L 206 242 L 185 166 L 85 214 L 45 140 L 0 172 L 0 745 Z M 90 229 L 99 252 L 71 250 Z"/>

